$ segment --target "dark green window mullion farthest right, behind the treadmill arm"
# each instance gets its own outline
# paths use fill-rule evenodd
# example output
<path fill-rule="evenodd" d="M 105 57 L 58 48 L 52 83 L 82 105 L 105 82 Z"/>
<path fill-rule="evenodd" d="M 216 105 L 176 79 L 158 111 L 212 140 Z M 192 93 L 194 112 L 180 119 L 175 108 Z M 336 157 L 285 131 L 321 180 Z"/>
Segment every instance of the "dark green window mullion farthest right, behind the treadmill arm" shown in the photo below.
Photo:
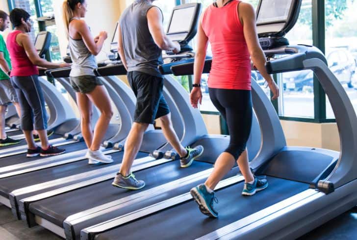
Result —
<path fill-rule="evenodd" d="M 325 53 L 325 0 L 312 0 L 313 45 Z M 316 122 L 326 121 L 326 94 L 314 75 L 314 118 Z"/>

